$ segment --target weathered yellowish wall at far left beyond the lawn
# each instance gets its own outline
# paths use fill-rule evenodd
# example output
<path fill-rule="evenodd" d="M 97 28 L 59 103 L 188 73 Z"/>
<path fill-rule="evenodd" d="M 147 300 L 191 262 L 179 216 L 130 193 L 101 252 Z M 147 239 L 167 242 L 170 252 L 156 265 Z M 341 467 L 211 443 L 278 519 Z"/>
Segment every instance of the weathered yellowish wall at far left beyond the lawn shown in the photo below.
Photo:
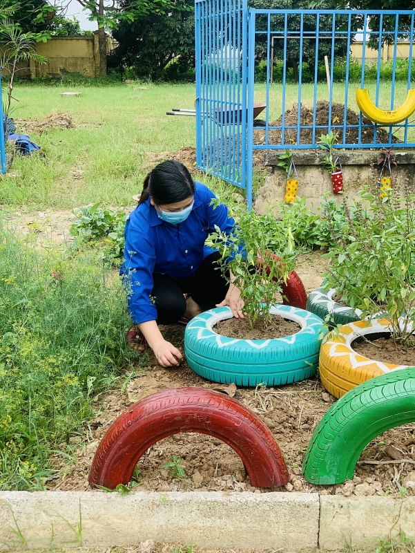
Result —
<path fill-rule="evenodd" d="M 106 51 L 109 53 L 117 46 L 117 42 L 107 36 Z M 86 37 L 53 37 L 47 42 L 38 42 L 36 50 L 39 55 L 46 56 L 46 64 L 34 61 L 23 62 L 17 73 L 19 77 L 59 76 L 61 73 L 79 73 L 85 77 L 95 77 L 99 68 L 98 35 Z M 3 72 L 6 75 L 6 73 Z"/>

